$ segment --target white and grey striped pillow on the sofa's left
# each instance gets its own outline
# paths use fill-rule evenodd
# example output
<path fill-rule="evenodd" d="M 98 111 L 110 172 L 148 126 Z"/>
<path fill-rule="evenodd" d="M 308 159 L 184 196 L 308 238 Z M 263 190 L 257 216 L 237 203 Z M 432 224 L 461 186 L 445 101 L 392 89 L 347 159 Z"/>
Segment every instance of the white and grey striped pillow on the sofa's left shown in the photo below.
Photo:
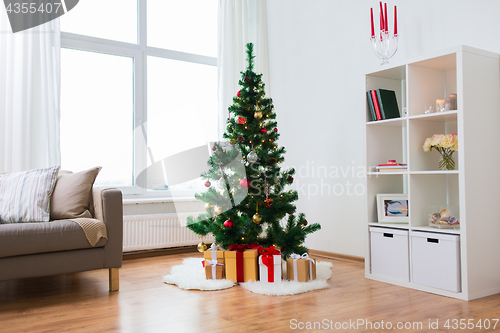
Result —
<path fill-rule="evenodd" d="M 59 166 L 0 175 L 0 222 L 48 222 Z"/>

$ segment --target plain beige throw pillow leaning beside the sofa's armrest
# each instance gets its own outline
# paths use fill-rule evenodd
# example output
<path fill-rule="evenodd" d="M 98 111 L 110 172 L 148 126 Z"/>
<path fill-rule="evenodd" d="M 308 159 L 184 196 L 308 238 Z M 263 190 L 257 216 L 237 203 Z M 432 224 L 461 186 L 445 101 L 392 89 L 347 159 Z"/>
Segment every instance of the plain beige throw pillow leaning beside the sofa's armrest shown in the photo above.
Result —
<path fill-rule="evenodd" d="M 50 203 L 51 220 L 91 218 L 92 185 L 101 167 L 59 174 Z"/>

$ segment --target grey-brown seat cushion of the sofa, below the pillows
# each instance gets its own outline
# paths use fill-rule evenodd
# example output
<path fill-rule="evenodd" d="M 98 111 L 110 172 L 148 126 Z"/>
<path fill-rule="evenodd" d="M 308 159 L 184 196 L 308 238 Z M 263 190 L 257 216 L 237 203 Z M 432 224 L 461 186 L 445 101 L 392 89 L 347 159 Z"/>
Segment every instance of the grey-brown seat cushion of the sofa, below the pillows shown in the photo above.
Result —
<path fill-rule="evenodd" d="M 0 225 L 0 258 L 87 249 L 102 247 L 105 244 L 106 239 L 101 238 L 95 246 L 91 246 L 83 229 L 73 221 Z"/>

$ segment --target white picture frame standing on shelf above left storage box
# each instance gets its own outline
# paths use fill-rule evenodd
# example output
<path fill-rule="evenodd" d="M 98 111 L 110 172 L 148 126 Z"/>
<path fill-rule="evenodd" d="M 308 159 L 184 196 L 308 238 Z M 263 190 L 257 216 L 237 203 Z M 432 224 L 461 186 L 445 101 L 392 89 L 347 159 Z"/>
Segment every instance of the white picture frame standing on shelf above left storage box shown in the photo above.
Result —
<path fill-rule="evenodd" d="M 377 194 L 378 223 L 408 223 L 408 194 Z"/>

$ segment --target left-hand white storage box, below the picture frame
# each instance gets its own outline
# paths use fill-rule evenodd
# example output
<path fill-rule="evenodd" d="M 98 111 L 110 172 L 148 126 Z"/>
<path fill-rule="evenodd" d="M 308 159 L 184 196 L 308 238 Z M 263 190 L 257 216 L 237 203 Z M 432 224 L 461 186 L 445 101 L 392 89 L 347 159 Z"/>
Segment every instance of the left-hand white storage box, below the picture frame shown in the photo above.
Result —
<path fill-rule="evenodd" d="M 373 275 L 410 281 L 408 230 L 370 227 Z"/>

